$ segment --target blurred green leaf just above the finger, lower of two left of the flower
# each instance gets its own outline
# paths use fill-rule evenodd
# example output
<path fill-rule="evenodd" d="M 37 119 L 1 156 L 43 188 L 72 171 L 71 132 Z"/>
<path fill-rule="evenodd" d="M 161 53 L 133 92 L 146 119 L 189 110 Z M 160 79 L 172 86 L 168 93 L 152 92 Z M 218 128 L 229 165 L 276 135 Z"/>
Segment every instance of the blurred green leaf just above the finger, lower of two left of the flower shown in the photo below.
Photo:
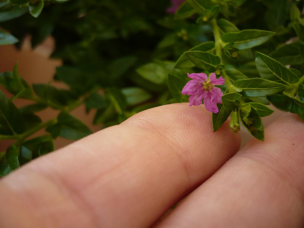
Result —
<path fill-rule="evenodd" d="M 138 87 L 123 88 L 121 92 L 126 97 L 127 104 L 131 106 L 138 105 L 152 98 L 150 93 Z"/>

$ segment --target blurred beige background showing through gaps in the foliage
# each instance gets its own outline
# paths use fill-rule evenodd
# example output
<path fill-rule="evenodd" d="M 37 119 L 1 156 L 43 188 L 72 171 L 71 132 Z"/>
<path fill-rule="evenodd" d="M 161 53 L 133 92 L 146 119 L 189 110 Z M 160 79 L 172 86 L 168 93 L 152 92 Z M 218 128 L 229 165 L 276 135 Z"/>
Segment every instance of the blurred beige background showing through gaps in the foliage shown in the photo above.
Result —
<path fill-rule="evenodd" d="M 16 62 L 18 62 L 19 74 L 29 84 L 48 83 L 50 81 L 53 81 L 56 67 L 62 64 L 60 60 L 49 58 L 52 50 L 54 50 L 54 45 L 54 40 L 52 37 L 49 37 L 43 44 L 37 46 L 35 49 L 32 49 L 30 45 L 30 37 L 27 37 L 23 42 L 21 50 L 17 50 L 13 45 L 0 46 L 0 72 L 12 71 Z M 64 84 L 58 82 L 52 82 L 51 84 L 60 88 L 65 88 Z M 6 94 L 8 94 L 8 92 L 6 92 L 3 88 L 1 89 Z M 15 101 L 15 104 L 18 107 L 22 107 L 31 103 L 22 99 L 16 99 Z M 57 113 L 58 112 L 53 109 L 46 109 L 39 112 L 38 115 L 43 121 L 46 121 L 54 118 Z M 93 131 L 98 131 L 100 129 L 100 126 L 92 125 L 94 112 L 90 112 L 87 115 L 85 113 L 84 105 L 73 110 L 71 113 L 86 123 Z M 271 116 L 264 117 L 264 126 L 267 126 L 269 123 L 271 123 L 271 121 L 277 118 L 281 113 L 282 111 L 275 110 Z M 43 131 L 38 132 L 35 136 L 41 134 L 43 134 Z M 241 129 L 239 134 L 242 137 L 242 146 L 250 139 L 252 139 L 252 136 L 244 128 Z M 58 138 L 55 140 L 55 148 L 58 149 L 71 142 L 71 140 Z M 1 141 L 0 150 L 5 149 L 10 143 L 10 141 Z"/>

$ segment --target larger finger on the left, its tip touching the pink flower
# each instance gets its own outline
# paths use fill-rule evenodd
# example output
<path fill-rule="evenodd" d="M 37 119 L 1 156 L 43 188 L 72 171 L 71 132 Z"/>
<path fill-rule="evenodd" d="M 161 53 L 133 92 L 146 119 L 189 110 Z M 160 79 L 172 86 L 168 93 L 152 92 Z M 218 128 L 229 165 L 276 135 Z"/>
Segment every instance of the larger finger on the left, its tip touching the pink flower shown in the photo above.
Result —
<path fill-rule="evenodd" d="M 3 178 L 0 227 L 149 227 L 236 153 L 228 125 L 203 105 L 141 112 Z"/>

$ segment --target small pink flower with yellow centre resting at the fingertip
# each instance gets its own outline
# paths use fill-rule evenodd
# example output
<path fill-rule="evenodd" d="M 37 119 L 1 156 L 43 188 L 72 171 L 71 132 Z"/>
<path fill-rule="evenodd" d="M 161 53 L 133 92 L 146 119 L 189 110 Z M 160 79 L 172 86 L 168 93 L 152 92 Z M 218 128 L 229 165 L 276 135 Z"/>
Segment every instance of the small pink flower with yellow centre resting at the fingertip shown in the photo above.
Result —
<path fill-rule="evenodd" d="M 209 112 L 218 113 L 219 109 L 216 104 L 222 104 L 221 97 L 223 93 L 221 89 L 215 87 L 215 85 L 223 85 L 225 79 L 223 79 L 222 76 L 217 79 L 215 73 L 210 74 L 209 78 L 207 74 L 204 73 L 188 73 L 188 77 L 192 78 L 192 80 L 187 82 L 181 93 L 191 95 L 189 97 L 189 105 L 198 106 L 202 104 L 202 100 L 204 100 L 205 107 Z"/>

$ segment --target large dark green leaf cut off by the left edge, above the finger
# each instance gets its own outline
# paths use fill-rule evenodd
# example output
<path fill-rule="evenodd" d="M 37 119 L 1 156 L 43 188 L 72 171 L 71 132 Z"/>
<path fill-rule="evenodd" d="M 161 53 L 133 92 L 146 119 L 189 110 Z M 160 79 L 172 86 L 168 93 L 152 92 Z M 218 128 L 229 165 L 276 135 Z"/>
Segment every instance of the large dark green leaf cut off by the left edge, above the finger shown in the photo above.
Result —
<path fill-rule="evenodd" d="M 19 109 L 0 90 L 0 133 L 21 134 L 25 131 L 25 120 Z"/>

